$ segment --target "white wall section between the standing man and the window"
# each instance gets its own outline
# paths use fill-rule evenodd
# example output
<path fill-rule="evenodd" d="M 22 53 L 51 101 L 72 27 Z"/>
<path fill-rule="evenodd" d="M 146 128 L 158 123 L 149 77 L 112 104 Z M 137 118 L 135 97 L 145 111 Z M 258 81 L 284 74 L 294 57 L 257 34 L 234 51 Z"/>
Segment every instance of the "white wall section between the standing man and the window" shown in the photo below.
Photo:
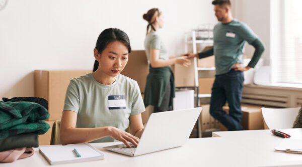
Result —
<path fill-rule="evenodd" d="M 264 64 L 270 64 L 270 0 L 233 0 L 234 18 L 246 23 L 265 45 Z M 246 45 L 245 55 L 252 57 L 254 47 Z"/>

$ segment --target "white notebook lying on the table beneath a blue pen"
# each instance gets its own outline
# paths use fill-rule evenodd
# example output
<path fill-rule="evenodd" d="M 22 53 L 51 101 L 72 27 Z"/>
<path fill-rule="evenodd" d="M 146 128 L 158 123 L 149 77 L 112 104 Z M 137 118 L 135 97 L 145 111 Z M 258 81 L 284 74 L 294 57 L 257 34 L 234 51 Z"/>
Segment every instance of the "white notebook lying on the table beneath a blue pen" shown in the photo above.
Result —
<path fill-rule="evenodd" d="M 81 157 L 78 157 L 73 149 L 77 149 Z M 39 146 L 39 152 L 50 164 L 80 162 L 88 160 L 104 159 L 105 154 L 89 143 L 67 145 Z"/>

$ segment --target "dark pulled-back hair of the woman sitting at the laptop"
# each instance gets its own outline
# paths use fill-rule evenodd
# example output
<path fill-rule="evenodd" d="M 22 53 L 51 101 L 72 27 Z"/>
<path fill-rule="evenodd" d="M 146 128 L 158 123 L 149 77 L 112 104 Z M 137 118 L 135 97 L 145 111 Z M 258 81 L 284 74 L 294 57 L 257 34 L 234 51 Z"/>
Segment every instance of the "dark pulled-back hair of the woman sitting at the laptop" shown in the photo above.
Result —
<path fill-rule="evenodd" d="M 102 54 L 102 52 L 106 49 L 106 47 L 115 41 L 119 41 L 123 43 L 128 48 L 128 53 L 131 53 L 131 46 L 130 46 L 130 40 L 127 34 L 120 29 L 116 28 L 109 28 L 104 30 L 97 40 L 96 49 L 98 50 L 99 54 Z M 93 71 L 96 71 L 99 67 L 99 62 L 95 60 Z"/>

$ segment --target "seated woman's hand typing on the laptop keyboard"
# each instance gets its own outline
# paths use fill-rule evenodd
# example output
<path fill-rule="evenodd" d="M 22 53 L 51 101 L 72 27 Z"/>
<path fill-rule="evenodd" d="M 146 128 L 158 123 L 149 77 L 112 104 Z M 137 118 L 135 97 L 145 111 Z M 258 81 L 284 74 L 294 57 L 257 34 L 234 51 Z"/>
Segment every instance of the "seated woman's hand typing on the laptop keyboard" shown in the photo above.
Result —
<path fill-rule="evenodd" d="M 128 143 L 131 142 L 133 145 L 137 146 L 138 142 L 139 142 L 139 138 L 133 136 L 132 134 L 125 132 L 123 130 L 120 130 L 116 127 L 109 127 L 109 136 L 122 141 L 124 144 L 126 144 L 129 148 L 131 147 L 131 145 Z"/>

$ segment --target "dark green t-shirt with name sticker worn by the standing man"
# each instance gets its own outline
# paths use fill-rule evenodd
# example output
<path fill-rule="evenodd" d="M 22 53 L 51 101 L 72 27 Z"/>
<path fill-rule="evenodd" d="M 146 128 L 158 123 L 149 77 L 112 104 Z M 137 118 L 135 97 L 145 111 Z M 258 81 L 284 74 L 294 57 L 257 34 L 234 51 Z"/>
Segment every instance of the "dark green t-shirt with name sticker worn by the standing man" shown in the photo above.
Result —
<path fill-rule="evenodd" d="M 236 63 L 242 63 L 245 41 L 251 44 L 258 39 L 246 24 L 236 19 L 216 24 L 213 36 L 216 75 L 227 73 Z"/>

